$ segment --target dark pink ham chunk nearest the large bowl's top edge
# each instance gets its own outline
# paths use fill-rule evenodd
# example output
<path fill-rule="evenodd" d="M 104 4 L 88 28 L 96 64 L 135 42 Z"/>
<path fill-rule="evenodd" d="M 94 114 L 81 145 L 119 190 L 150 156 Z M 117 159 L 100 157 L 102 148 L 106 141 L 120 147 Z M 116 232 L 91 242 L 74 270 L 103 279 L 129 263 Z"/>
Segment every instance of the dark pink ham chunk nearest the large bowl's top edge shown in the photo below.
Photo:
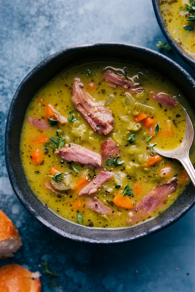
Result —
<path fill-rule="evenodd" d="M 143 90 L 143 88 L 135 88 L 137 85 L 134 84 L 132 81 L 126 80 L 125 78 L 121 77 L 120 75 L 114 73 L 111 70 L 106 70 L 103 74 L 103 78 L 108 81 L 108 86 L 116 87 L 116 85 L 120 87 L 124 87 L 129 89 L 131 93 L 138 93 Z"/>

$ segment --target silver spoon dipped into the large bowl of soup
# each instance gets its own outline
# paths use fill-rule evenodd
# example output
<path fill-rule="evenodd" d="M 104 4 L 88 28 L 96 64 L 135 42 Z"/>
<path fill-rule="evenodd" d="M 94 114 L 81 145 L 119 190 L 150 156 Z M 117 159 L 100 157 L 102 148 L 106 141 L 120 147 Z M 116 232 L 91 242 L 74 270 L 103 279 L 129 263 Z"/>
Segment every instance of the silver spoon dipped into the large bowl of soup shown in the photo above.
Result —
<path fill-rule="evenodd" d="M 184 141 L 182 142 L 181 146 L 172 151 L 161 151 L 157 149 L 156 147 L 154 149 L 158 154 L 162 156 L 175 158 L 178 161 L 180 161 L 183 167 L 185 168 L 185 170 L 187 171 L 187 174 L 189 175 L 189 178 L 192 184 L 195 187 L 195 170 L 189 159 L 189 150 L 194 140 L 194 130 L 193 130 L 193 126 L 189 118 L 189 115 L 187 114 L 185 109 L 184 109 L 184 113 L 185 113 L 185 118 L 186 118 L 186 133 L 185 133 Z"/>

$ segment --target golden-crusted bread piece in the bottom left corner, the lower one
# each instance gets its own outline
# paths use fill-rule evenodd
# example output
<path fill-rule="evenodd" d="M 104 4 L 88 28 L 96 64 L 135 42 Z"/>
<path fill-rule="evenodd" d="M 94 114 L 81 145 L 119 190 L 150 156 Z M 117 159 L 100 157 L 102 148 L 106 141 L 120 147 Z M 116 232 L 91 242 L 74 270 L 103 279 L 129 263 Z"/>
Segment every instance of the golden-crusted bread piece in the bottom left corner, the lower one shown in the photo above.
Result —
<path fill-rule="evenodd" d="M 20 265 L 0 268 L 0 292 L 40 292 L 39 272 L 31 273 Z"/>

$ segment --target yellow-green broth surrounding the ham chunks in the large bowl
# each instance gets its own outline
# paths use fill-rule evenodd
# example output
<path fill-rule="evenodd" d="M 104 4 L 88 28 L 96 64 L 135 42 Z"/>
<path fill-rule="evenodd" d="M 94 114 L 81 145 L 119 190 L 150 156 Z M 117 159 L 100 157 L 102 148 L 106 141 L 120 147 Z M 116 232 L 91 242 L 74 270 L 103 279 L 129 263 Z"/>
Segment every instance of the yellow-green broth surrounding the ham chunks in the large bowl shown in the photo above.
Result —
<path fill-rule="evenodd" d="M 127 77 L 139 84 L 143 90 L 140 93 L 129 93 L 127 89 L 120 86 L 116 86 L 116 88 L 109 86 L 103 78 L 105 68 L 121 74 L 122 77 L 125 77 L 124 73 L 126 73 Z M 96 102 L 103 101 L 104 105 L 111 110 L 114 128 L 108 135 L 96 133 L 75 109 L 72 102 L 72 87 L 75 78 L 80 78 L 85 90 L 92 95 L 92 98 L 95 98 Z M 171 109 L 166 108 L 149 97 L 151 92 L 163 92 L 169 96 L 175 96 L 179 103 Z M 173 204 L 189 183 L 188 177 L 183 181 L 184 170 L 178 161 L 161 157 L 162 159 L 157 163 L 144 166 L 149 156 L 157 155 L 153 148 L 149 150 L 149 144 L 151 146 L 157 144 L 159 148 L 163 147 L 164 150 L 171 150 L 181 145 L 185 135 L 185 117 L 180 102 L 189 109 L 184 96 L 167 79 L 137 64 L 99 62 L 65 69 L 36 93 L 25 115 L 20 138 L 20 156 L 28 185 L 39 200 L 56 214 L 74 223 L 89 227 L 126 227 L 158 216 Z M 65 125 L 55 124 L 51 121 L 51 124 L 55 125 L 51 126 L 49 130 L 30 124 L 29 117 L 48 120 L 46 113 L 48 104 L 53 105 L 63 117 L 67 118 L 69 113 L 74 110 L 69 119 L 74 116 L 73 120 L 75 121 L 70 122 L 68 119 Z M 138 123 L 135 121 L 135 118 L 140 114 L 136 109 L 136 104 L 151 107 L 153 114 L 150 115 L 150 118 L 154 120 L 153 127 L 156 128 L 156 125 L 159 125 L 158 133 L 151 135 L 152 138 L 147 142 L 150 135 L 149 128 L 144 126 L 143 121 Z M 136 124 L 139 124 L 139 127 L 133 128 L 132 125 Z M 131 135 L 134 135 L 136 140 L 127 140 Z M 111 165 L 106 165 L 106 161 L 102 159 L 102 169 L 74 162 L 70 163 L 54 154 L 56 144 L 49 137 L 57 140 L 56 142 L 65 139 L 64 145 L 58 147 L 59 149 L 63 148 L 66 143 L 74 142 L 99 154 L 101 154 L 102 143 L 107 138 L 111 138 L 117 143 L 119 149 L 118 161 L 125 162 L 115 166 L 113 157 L 111 157 Z M 33 153 L 37 149 L 41 156 L 39 163 L 34 162 Z M 171 173 L 166 178 L 160 175 L 161 169 L 165 167 L 171 168 Z M 64 191 L 66 196 L 55 194 L 45 187 L 45 182 L 50 183 L 52 179 L 46 176 L 51 175 L 52 168 L 63 173 L 61 176 L 63 183 L 70 187 L 69 190 Z M 81 178 L 89 183 L 94 175 L 98 175 L 102 170 L 115 174 L 113 178 L 103 183 L 93 196 L 111 208 L 111 215 L 101 215 L 87 208 L 86 200 L 90 196 L 79 196 L 78 193 L 83 186 L 76 187 Z M 127 224 L 127 215 L 130 211 L 134 211 L 137 203 L 154 187 L 166 183 L 173 177 L 179 181 L 176 191 L 169 195 L 155 211 L 130 225 Z M 115 196 L 118 192 L 122 194 L 128 184 L 132 194 L 127 195 L 127 197 L 132 202 L 132 209 L 117 206 L 114 203 Z"/>

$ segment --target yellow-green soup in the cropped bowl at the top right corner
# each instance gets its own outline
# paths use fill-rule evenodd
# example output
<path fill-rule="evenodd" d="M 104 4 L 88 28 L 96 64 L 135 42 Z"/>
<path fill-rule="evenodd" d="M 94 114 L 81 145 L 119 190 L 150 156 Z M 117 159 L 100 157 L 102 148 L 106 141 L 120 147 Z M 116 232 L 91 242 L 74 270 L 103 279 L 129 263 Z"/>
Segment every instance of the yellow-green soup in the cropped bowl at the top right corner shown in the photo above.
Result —
<path fill-rule="evenodd" d="M 195 58 L 195 1 L 159 0 L 167 30 L 191 58 Z"/>

